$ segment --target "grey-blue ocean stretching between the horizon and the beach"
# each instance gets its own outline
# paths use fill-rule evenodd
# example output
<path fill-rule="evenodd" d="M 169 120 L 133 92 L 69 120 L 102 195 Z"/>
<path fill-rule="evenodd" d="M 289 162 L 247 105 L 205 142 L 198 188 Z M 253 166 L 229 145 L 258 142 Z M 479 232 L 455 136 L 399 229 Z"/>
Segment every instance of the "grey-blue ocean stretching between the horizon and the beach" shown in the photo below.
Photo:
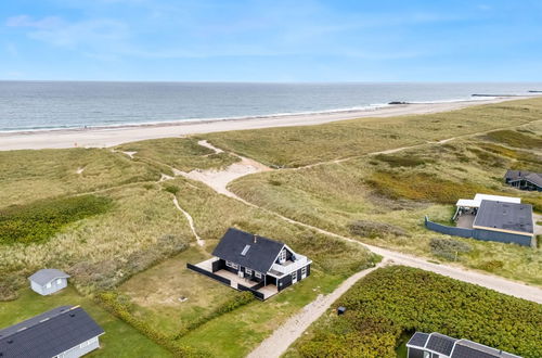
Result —
<path fill-rule="evenodd" d="M 0 131 L 334 112 L 529 90 L 542 84 L 0 81 Z"/>

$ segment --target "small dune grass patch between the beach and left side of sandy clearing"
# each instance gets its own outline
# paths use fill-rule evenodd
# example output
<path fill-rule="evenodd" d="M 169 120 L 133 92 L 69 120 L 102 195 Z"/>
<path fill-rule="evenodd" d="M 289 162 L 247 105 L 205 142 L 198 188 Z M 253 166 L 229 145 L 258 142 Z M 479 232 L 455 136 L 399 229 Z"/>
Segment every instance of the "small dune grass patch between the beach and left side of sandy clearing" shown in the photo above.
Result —
<path fill-rule="evenodd" d="M 238 157 L 197 144 L 194 138 L 164 138 L 121 144 L 117 151 L 136 152 L 133 157 L 152 164 L 165 164 L 182 171 L 194 169 L 223 168 L 238 161 Z M 171 172 L 170 172 L 171 174 Z"/>

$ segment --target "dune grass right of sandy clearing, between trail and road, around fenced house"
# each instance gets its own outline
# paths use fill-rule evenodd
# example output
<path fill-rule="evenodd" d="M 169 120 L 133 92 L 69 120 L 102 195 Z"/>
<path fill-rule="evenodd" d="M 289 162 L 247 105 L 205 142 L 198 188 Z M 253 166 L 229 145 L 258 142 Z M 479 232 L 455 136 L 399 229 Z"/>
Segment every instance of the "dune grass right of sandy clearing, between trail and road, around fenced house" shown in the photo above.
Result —
<path fill-rule="evenodd" d="M 517 191 L 503 183 L 506 168 L 522 162 L 499 155 L 495 164 L 492 157 L 488 161 L 485 155 L 470 151 L 479 148 L 493 155 L 492 151 L 481 149 L 486 145 L 488 142 L 481 139 L 426 144 L 396 153 L 391 161 L 389 156 L 383 161 L 376 155 L 250 175 L 232 182 L 230 189 L 248 202 L 298 221 L 366 243 L 446 261 L 430 248 L 431 239 L 444 235 L 424 228 L 425 215 L 452 225 L 450 218 L 455 201 L 472 197 L 477 192 L 521 196 L 524 202 L 533 203 L 538 208 L 538 193 Z M 518 155 L 522 153 L 503 148 Z M 403 158 L 415 158 L 416 165 L 412 166 L 410 159 L 402 165 Z M 359 230 L 352 230 L 356 226 Z M 472 246 L 468 253 L 459 254 L 459 264 L 542 284 L 540 248 L 457 240 Z"/>

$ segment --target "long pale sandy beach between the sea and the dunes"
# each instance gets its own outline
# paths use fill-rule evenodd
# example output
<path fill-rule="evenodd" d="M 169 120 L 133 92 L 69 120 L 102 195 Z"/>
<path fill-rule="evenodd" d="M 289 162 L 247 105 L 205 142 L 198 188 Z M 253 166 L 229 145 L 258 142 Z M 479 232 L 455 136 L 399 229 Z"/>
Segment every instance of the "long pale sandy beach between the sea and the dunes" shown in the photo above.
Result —
<path fill-rule="evenodd" d="M 525 97 L 528 98 L 528 97 Z M 389 117 L 409 114 L 427 114 L 460 110 L 472 105 L 496 103 L 524 97 L 500 97 L 440 103 L 397 104 L 362 111 L 345 111 L 317 114 L 296 114 L 242 119 L 184 120 L 156 125 L 102 127 L 91 129 L 60 129 L 43 131 L 21 131 L 0 133 L 0 150 L 61 149 L 61 148 L 106 148 L 126 142 L 208 133 L 228 130 L 257 129 L 270 127 L 310 126 L 343 119 L 363 117 Z"/>

